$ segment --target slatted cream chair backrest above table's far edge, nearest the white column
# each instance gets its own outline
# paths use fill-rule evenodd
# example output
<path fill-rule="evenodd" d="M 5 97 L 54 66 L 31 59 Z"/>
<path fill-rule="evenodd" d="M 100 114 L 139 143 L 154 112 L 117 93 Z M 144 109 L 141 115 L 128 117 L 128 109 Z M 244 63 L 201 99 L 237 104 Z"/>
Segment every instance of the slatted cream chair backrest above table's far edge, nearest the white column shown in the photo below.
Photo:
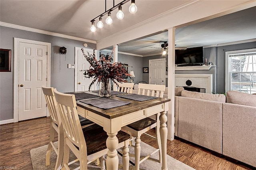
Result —
<path fill-rule="evenodd" d="M 152 85 L 152 84 L 139 83 L 138 89 L 139 89 L 138 95 L 163 97 L 165 85 Z"/>

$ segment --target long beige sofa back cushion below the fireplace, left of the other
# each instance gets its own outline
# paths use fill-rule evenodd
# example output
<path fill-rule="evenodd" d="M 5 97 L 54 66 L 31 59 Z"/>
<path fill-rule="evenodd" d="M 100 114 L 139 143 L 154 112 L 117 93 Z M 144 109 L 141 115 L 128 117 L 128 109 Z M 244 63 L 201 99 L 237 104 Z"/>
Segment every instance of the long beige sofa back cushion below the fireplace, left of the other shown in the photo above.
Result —
<path fill-rule="evenodd" d="M 181 92 L 182 97 L 190 97 L 194 99 L 203 99 L 203 100 L 210 100 L 210 101 L 218 101 L 225 103 L 226 97 L 224 94 L 208 94 L 208 93 L 199 93 L 195 91 L 187 91 L 183 90 Z"/>

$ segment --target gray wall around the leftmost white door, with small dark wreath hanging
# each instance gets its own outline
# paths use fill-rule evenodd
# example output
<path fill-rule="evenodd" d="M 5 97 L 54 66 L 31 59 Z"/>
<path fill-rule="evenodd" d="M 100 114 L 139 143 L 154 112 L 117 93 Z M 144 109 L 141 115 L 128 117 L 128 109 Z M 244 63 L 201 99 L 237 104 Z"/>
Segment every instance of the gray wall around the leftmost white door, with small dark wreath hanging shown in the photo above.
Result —
<path fill-rule="evenodd" d="M 13 119 L 14 38 L 51 43 L 51 86 L 61 92 L 74 91 L 74 69 L 68 69 L 67 64 L 74 64 L 75 47 L 85 43 L 0 26 L 0 48 L 12 50 L 11 72 L 0 72 L 0 121 Z M 96 48 L 94 43 L 87 44 L 87 48 Z M 67 48 L 66 56 L 58 53 L 62 46 Z"/>

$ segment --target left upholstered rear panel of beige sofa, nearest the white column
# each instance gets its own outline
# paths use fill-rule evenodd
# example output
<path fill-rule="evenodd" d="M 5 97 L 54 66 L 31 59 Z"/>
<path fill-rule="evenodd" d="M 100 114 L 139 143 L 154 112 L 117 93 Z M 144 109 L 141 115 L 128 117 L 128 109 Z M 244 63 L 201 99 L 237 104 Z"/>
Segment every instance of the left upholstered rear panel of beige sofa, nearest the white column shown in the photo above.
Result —
<path fill-rule="evenodd" d="M 178 136 L 222 154 L 222 103 L 179 97 Z"/>

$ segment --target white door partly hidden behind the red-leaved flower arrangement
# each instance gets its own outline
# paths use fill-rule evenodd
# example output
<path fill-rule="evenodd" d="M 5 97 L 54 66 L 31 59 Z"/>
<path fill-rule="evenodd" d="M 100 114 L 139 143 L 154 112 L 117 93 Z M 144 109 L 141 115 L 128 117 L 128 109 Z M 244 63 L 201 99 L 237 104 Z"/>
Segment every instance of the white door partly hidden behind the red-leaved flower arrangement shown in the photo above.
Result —
<path fill-rule="evenodd" d="M 84 71 L 81 70 L 86 70 L 90 68 L 90 63 L 86 61 L 83 53 L 82 53 L 82 48 L 81 47 L 75 47 L 75 91 L 88 91 L 89 90 L 89 85 L 92 82 L 92 78 L 85 78 L 84 77 Z M 87 54 L 87 51 L 89 53 L 93 53 L 92 49 L 86 49 L 83 48 L 84 52 Z M 97 58 L 97 51 L 95 50 L 95 55 Z M 90 90 L 96 90 L 97 82 L 92 85 Z"/>

